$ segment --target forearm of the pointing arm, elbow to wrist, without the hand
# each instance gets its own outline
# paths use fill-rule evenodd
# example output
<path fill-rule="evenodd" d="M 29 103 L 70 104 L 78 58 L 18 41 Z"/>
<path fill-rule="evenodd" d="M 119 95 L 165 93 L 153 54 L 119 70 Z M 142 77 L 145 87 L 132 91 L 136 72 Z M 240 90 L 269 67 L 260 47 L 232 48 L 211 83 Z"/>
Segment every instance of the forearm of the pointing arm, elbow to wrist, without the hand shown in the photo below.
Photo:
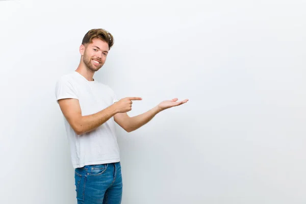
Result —
<path fill-rule="evenodd" d="M 116 108 L 112 105 L 95 114 L 81 116 L 75 124 L 75 132 L 77 132 L 78 135 L 90 132 L 108 121 L 116 113 Z"/>

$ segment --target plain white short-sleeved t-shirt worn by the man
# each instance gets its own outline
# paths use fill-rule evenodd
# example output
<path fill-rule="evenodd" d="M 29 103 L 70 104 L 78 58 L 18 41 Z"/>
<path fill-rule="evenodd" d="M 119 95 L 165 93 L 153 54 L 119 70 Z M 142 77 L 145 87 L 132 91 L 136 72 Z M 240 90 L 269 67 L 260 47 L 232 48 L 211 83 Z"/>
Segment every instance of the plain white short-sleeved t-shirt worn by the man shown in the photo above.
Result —
<path fill-rule="evenodd" d="M 55 95 L 57 103 L 63 98 L 78 99 L 82 116 L 97 113 L 118 101 L 109 86 L 88 81 L 77 71 L 65 74 L 57 81 Z M 64 122 L 74 168 L 120 161 L 114 117 L 82 135 L 73 131 L 65 117 Z"/>

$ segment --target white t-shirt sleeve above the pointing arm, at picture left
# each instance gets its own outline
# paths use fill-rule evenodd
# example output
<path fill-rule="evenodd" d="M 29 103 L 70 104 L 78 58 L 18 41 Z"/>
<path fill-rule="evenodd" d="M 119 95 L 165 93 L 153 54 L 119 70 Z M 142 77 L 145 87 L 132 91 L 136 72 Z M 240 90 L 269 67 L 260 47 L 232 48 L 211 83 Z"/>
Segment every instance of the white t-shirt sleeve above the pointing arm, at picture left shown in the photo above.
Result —
<path fill-rule="evenodd" d="M 75 91 L 72 84 L 69 82 L 68 79 L 64 77 L 59 79 L 56 83 L 55 96 L 57 103 L 59 103 L 59 99 L 64 99 L 64 98 L 79 99 L 77 92 Z"/>

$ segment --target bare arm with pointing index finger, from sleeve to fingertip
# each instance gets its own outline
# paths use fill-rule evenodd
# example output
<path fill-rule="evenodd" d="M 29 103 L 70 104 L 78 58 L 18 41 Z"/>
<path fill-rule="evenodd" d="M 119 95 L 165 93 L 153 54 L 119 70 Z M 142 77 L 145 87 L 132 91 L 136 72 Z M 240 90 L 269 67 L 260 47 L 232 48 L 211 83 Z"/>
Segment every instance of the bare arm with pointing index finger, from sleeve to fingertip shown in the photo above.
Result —
<path fill-rule="evenodd" d="M 132 110 L 132 100 L 141 100 L 139 97 L 126 97 L 117 103 L 95 114 L 82 116 L 78 99 L 65 98 L 59 100 L 62 113 L 75 133 L 78 135 L 90 132 L 108 121 L 117 113 L 126 113 Z"/>

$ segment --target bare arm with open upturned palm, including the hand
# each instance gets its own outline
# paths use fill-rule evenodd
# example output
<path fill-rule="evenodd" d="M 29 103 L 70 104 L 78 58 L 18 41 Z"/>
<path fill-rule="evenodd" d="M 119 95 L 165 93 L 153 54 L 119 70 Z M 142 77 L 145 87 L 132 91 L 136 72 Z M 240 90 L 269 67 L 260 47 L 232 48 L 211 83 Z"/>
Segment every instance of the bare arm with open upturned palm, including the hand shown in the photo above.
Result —
<path fill-rule="evenodd" d="M 147 122 L 149 122 L 159 112 L 174 106 L 180 106 L 182 104 L 185 104 L 187 101 L 188 99 L 177 101 L 177 98 L 173 98 L 172 100 L 165 100 L 162 103 L 160 103 L 158 106 L 152 108 L 151 110 L 134 117 L 130 117 L 126 113 L 117 113 L 116 115 L 114 115 L 114 120 L 126 132 L 132 132 L 139 129 L 139 127 L 143 126 Z"/>

